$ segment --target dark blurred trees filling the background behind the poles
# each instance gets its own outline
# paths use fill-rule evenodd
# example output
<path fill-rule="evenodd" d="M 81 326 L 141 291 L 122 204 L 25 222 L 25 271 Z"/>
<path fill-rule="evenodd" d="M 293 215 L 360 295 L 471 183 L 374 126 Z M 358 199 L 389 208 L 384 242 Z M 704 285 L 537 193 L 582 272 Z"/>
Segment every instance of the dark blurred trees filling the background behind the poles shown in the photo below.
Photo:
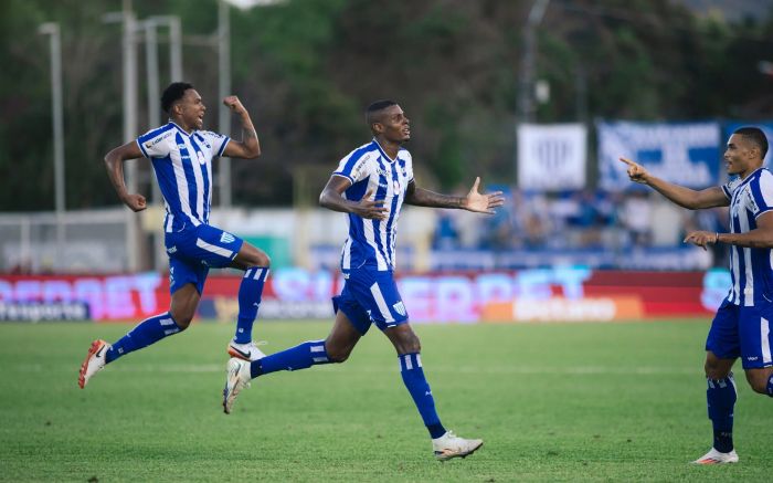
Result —
<path fill-rule="evenodd" d="M 120 7 L 119 0 L 0 3 L 1 211 L 54 204 L 49 50 L 36 32 L 46 21 L 62 30 L 66 206 L 118 202 L 102 158 L 124 141 L 120 25 L 103 15 Z M 205 126 L 218 130 L 218 52 L 208 41 L 218 27 L 216 2 L 134 0 L 133 7 L 139 19 L 181 18 L 186 80 L 208 104 Z M 422 185 L 454 189 L 476 175 L 511 182 L 530 7 L 289 0 L 232 8 L 232 92 L 253 115 L 264 150 L 257 160 L 233 162 L 234 203 L 287 206 L 303 198 L 294 193 L 299 187 L 321 188 L 338 160 L 370 139 L 362 112 L 378 98 L 398 101 L 411 118 L 407 147 Z M 760 69 L 773 61 L 770 13 L 731 22 L 669 0 L 553 0 L 536 31 L 536 78 L 550 93 L 537 104 L 536 120 L 770 118 L 773 77 Z M 166 73 L 166 43 L 160 48 Z M 138 51 L 142 133 L 152 126 L 141 44 Z M 147 196 L 149 164 L 138 162 Z"/>

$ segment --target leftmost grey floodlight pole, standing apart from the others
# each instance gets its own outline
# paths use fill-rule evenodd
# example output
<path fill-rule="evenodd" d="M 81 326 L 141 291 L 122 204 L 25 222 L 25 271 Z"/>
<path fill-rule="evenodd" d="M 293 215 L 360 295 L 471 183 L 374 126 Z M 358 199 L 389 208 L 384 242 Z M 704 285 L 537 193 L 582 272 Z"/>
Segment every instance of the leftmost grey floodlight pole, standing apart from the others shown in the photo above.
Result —
<path fill-rule="evenodd" d="M 50 35 L 51 50 L 51 117 L 54 130 L 54 208 L 56 211 L 56 261 L 64 260 L 64 116 L 62 102 L 62 35 L 59 23 L 46 22 L 38 32 Z"/>

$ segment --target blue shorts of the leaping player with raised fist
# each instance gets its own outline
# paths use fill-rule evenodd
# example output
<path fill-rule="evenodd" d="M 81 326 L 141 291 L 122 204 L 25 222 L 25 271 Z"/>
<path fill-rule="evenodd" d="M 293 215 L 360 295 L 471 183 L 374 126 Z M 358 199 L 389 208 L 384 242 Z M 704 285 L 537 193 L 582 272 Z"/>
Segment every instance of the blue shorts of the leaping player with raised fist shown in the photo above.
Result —
<path fill-rule="evenodd" d="M 169 292 L 192 283 L 202 294 L 210 267 L 231 265 L 243 243 L 241 238 L 209 224 L 166 233 Z"/>

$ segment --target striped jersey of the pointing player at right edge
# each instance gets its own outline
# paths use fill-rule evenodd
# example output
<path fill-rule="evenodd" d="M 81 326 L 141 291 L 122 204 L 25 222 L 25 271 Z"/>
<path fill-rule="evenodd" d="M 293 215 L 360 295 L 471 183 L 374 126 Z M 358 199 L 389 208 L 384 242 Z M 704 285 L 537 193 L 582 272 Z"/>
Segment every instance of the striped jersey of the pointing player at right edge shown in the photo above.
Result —
<path fill-rule="evenodd" d="M 773 174 L 767 169 L 735 178 L 723 185 L 722 191 L 730 199 L 730 233 L 754 230 L 758 217 L 773 210 Z M 754 306 L 773 302 L 772 255 L 770 249 L 730 246 L 731 303 Z"/>

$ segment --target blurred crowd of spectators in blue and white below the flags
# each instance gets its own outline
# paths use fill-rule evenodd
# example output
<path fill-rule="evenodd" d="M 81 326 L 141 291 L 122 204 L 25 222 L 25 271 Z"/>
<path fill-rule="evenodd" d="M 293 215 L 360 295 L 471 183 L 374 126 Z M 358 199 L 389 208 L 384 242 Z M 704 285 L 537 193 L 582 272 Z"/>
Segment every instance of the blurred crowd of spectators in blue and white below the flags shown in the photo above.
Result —
<path fill-rule="evenodd" d="M 728 231 L 727 208 L 690 211 L 652 191 L 505 191 L 505 207 L 490 217 L 438 210 L 433 249 L 624 252 L 679 248 L 693 230 Z M 724 266 L 724 256 L 716 248 L 713 264 Z"/>

